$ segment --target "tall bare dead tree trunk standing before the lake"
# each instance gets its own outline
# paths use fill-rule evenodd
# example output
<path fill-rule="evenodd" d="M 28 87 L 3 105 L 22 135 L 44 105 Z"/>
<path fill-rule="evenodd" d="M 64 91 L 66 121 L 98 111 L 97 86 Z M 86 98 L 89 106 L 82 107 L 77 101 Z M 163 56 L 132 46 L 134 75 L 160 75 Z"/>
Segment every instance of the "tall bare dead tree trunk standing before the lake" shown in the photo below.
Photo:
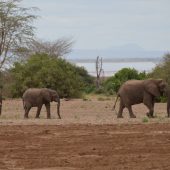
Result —
<path fill-rule="evenodd" d="M 101 75 L 103 73 L 103 60 L 97 56 L 96 58 L 96 88 L 100 87 Z"/>

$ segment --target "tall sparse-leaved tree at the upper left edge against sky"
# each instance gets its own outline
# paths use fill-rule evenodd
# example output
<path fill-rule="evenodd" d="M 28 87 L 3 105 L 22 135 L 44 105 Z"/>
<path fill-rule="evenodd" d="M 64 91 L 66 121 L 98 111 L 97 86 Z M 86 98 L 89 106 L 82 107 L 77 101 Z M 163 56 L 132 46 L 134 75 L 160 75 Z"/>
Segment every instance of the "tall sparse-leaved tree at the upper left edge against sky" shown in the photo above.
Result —
<path fill-rule="evenodd" d="M 16 60 L 16 51 L 34 36 L 32 22 L 37 16 L 30 13 L 36 8 L 21 7 L 20 2 L 0 1 L 0 69 Z"/>

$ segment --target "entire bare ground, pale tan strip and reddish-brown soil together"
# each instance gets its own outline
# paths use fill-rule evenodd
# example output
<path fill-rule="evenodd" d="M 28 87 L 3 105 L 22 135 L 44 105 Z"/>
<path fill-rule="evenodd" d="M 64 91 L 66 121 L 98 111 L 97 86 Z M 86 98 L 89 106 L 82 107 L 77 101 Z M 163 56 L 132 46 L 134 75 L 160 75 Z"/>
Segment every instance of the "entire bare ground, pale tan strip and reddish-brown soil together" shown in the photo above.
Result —
<path fill-rule="evenodd" d="M 104 101 L 101 101 L 104 100 Z M 62 119 L 52 103 L 52 119 L 23 118 L 21 100 L 5 100 L 0 119 L 0 170 L 169 170 L 170 119 L 166 104 L 155 105 L 155 118 L 144 105 L 136 119 L 117 119 L 113 100 L 92 98 L 61 102 Z M 118 110 L 118 107 L 116 108 Z"/>

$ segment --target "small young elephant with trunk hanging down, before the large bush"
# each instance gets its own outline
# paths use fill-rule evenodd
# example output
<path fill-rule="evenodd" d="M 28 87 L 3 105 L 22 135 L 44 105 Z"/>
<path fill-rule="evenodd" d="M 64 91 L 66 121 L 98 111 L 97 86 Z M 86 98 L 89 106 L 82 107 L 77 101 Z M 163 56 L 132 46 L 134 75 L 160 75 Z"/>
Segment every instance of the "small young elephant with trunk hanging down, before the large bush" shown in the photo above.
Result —
<path fill-rule="evenodd" d="M 50 119 L 50 102 L 58 102 L 57 114 L 59 119 L 60 116 L 60 98 L 55 90 L 47 88 L 30 88 L 25 91 L 22 97 L 23 106 L 25 110 L 24 118 L 28 118 L 28 113 L 31 107 L 38 107 L 36 118 L 39 118 L 42 105 L 45 104 L 47 110 L 47 118 Z"/>

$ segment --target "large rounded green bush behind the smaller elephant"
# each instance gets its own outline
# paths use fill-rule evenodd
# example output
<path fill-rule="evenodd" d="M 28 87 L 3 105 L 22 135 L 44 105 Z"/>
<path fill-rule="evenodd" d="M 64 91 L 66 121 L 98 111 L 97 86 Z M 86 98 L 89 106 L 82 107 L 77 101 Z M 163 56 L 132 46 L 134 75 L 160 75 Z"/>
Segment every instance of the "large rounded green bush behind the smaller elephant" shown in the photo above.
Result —
<path fill-rule="evenodd" d="M 47 54 L 33 55 L 25 63 L 16 62 L 10 72 L 13 97 L 22 96 L 30 87 L 52 88 L 63 97 L 80 97 L 83 89 L 92 82 L 83 68 Z"/>

